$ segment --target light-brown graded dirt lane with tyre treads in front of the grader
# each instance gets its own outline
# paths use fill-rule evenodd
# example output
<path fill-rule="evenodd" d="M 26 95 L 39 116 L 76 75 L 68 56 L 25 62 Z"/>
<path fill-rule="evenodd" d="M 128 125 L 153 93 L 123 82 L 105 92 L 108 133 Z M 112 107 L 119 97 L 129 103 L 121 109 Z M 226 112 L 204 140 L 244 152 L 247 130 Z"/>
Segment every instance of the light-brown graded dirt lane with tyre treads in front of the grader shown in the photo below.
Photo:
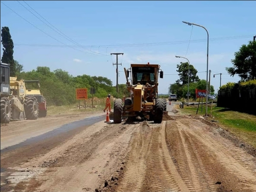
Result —
<path fill-rule="evenodd" d="M 129 147 L 115 191 L 256 190 L 255 158 L 195 119 L 143 122 Z"/>

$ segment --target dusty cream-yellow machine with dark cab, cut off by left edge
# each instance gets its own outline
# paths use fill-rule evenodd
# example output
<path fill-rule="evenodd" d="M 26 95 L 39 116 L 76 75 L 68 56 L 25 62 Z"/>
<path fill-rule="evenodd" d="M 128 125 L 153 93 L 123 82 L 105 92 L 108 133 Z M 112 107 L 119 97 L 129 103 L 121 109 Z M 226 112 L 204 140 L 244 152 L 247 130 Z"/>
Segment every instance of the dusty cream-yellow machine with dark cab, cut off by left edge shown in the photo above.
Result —
<path fill-rule="evenodd" d="M 38 117 L 37 98 L 26 95 L 25 81 L 10 77 L 10 65 L 1 63 L 1 123 L 11 120 L 35 120 Z"/>

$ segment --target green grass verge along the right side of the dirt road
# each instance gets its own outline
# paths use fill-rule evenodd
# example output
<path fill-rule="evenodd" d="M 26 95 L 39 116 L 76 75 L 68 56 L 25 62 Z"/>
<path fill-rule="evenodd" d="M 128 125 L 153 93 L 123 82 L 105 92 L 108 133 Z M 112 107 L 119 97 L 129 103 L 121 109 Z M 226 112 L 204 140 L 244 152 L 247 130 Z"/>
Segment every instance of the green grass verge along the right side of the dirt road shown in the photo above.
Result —
<path fill-rule="evenodd" d="M 184 106 L 180 111 L 184 114 L 196 115 L 197 106 Z M 205 115 L 205 105 L 201 112 L 201 106 L 198 109 L 198 115 Z M 233 133 L 239 139 L 242 139 L 245 143 L 248 143 L 256 147 L 256 116 L 232 111 L 227 108 L 208 106 L 209 119 L 219 121 L 219 124 L 223 129 Z"/>

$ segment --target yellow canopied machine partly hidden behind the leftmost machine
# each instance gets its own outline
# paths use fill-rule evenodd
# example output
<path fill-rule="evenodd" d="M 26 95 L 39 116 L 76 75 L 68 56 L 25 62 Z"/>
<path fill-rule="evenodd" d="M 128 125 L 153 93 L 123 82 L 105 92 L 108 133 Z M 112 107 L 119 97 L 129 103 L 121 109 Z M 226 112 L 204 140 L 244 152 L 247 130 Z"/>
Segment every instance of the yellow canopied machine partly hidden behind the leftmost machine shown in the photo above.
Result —
<path fill-rule="evenodd" d="M 47 115 L 46 99 L 41 94 L 39 80 L 25 80 L 27 85 L 26 96 L 33 96 L 37 98 L 38 102 L 38 117 L 45 117 Z M 32 89 L 35 87 L 35 89 Z"/>

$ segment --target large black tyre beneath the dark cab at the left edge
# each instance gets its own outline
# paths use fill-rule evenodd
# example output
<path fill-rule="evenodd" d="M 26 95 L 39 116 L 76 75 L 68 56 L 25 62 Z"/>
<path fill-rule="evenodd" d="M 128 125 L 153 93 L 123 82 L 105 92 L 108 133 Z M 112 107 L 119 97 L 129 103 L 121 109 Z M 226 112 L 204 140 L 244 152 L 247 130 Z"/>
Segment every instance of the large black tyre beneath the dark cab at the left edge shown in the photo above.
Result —
<path fill-rule="evenodd" d="M 0 113 L 1 113 L 1 123 L 10 123 L 11 119 L 11 107 L 10 101 L 7 97 L 1 98 Z"/>

